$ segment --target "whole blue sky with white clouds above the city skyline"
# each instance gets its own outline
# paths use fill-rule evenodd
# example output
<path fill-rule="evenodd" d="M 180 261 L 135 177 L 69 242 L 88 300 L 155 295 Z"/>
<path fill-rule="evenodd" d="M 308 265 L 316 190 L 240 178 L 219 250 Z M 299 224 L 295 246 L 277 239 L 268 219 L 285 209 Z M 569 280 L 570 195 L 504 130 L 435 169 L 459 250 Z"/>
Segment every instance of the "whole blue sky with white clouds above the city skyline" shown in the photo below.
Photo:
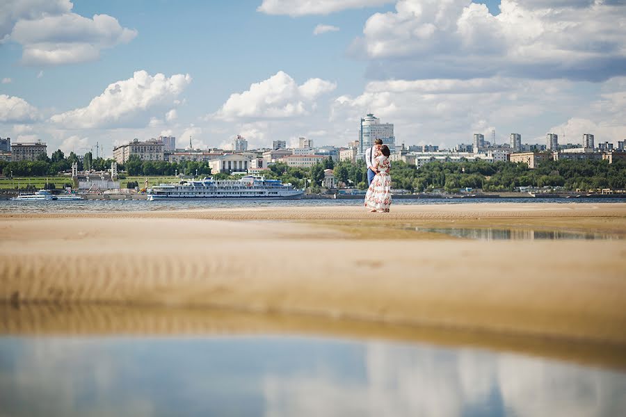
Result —
<path fill-rule="evenodd" d="M 0 137 L 111 156 L 134 138 L 229 149 L 626 139 L 626 0 L 4 0 Z"/>

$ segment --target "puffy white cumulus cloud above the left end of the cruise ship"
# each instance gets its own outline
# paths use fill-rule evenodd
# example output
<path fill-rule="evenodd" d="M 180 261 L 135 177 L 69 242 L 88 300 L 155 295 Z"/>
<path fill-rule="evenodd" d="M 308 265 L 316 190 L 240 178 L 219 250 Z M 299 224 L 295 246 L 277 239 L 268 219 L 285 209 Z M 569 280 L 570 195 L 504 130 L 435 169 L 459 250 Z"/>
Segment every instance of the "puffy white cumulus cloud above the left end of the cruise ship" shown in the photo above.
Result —
<path fill-rule="evenodd" d="M 189 74 L 168 78 L 163 74 L 152 76 L 143 70 L 137 71 L 131 79 L 111 83 L 88 106 L 54 115 L 50 120 L 71 129 L 145 124 L 150 120 L 150 111 L 172 106 L 189 83 Z"/>

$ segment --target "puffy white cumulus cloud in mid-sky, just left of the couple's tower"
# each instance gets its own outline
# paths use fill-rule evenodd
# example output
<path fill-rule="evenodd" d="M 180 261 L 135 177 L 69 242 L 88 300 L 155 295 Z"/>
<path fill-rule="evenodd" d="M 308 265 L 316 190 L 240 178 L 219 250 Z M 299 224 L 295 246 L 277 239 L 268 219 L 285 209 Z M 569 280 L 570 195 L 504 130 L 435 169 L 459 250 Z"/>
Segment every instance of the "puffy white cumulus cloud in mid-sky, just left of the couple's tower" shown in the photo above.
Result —
<path fill-rule="evenodd" d="M 223 106 L 213 115 L 220 120 L 237 118 L 282 118 L 306 115 L 307 105 L 314 106 L 314 100 L 331 92 L 337 84 L 322 79 L 309 79 L 298 85 L 294 79 L 282 71 L 250 89 L 230 95 Z"/>

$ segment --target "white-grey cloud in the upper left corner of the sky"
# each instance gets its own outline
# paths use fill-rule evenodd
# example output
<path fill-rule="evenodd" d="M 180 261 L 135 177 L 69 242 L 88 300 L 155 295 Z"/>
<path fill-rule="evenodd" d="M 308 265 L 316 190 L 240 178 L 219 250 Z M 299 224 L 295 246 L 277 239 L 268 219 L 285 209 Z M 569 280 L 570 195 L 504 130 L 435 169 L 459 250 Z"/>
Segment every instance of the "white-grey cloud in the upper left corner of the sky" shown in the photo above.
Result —
<path fill-rule="evenodd" d="M 31 10 L 26 13 L 24 4 Z M 10 2 L 3 13 L 3 28 L 12 26 L 10 38 L 24 49 L 24 65 L 62 65 L 99 58 L 102 49 L 115 47 L 136 37 L 137 31 L 122 28 L 115 17 L 93 18 L 71 13 L 70 1 Z"/>

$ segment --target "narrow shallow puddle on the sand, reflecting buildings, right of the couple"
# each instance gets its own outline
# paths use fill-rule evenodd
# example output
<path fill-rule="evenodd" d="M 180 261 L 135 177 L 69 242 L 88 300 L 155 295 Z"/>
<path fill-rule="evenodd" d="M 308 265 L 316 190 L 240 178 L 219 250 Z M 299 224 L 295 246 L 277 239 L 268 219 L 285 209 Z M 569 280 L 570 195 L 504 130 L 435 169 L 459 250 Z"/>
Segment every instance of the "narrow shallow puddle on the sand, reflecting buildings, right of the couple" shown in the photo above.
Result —
<path fill-rule="evenodd" d="M 622 240 L 626 238 L 623 234 L 588 231 L 426 227 L 416 227 L 415 230 L 477 240 Z"/>

